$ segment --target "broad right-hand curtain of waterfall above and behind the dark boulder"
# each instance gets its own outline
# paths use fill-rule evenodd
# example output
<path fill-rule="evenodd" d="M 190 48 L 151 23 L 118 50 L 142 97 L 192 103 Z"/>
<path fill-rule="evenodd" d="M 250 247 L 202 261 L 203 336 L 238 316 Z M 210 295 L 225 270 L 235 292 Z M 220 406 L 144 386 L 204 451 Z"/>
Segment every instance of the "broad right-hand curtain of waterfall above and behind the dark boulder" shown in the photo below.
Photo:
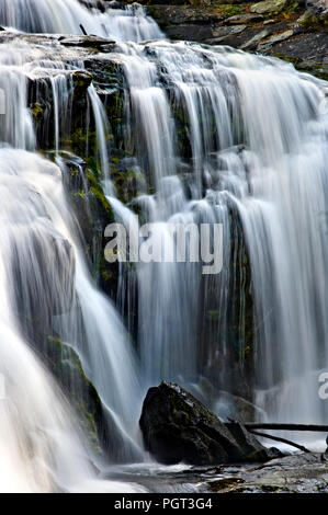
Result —
<path fill-rule="evenodd" d="M 245 298 L 238 316 L 229 307 L 230 283 L 239 273 L 234 213 L 253 291 L 253 400 L 269 420 L 323 422 L 327 411 L 317 392 L 328 358 L 327 242 L 320 229 L 327 195 L 326 83 L 276 59 L 219 47 L 158 42 L 120 44 L 117 53 L 129 85 L 127 130 L 138 127 L 135 137 L 127 134 L 126 145 L 156 185 L 154 195 L 135 199 L 138 209 L 156 222 L 156 238 L 166 248 L 174 245 L 168 233 L 173 221 L 222 222 L 225 231 L 224 271 L 207 284 L 191 264 L 138 265 L 146 380 L 190 385 L 207 374 L 222 387 L 236 344 L 242 368 L 246 329 L 231 334 L 229 327 L 231 317 L 245 323 Z M 181 118 L 190 161 L 178 148 Z M 177 175 L 183 167 L 188 186 L 181 172 Z M 216 350 L 199 341 L 206 332 L 202 310 L 214 298 L 220 319 Z"/>

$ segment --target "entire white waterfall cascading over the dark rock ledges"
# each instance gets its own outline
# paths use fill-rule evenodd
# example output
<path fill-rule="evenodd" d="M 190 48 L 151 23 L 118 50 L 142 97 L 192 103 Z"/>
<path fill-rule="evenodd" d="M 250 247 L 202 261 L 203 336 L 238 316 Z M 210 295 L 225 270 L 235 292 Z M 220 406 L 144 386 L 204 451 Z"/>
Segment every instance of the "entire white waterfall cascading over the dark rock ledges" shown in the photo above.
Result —
<path fill-rule="evenodd" d="M 0 0 L 0 23 L 66 34 L 80 34 L 82 24 L 116 42 L 162 37 L 142 8 L 101 11 L 91 0 Z M 69 172 L 61 145 L 80 77 L 75 73 L 84 73 L 91 50 L 64 48 L 58 36 L 38 41 L 8 31 L 1 37 L 9 42 L 0 45 L 0 373 L 8 388 L 0 400 L 0 488 L 123 489 L 95 480 L 94 457 L 75 415 L 31 350 L 48 335 L 80 357 L 102 402 L 108 450 L 116 460 L 142 459 L 137 417 L 146 388 L 161 379 L 203 398 L 208 381 L 234 393 L 244 389 L 269 420 L 327 419 L 318 398 L 318 374 L 328 359 L 328 248 L 320 226 L 327 213 L 327 83 L 226 47 L 156 41 L 111 43 L 97 52 L 103 65 L 122 70 L 122 147 L 144 180 L 124 205 L 111 176 L 111 121 L 91 83 L 97 168 L 116 221 L 134 234 L 138 224 L 152 222 L 154 238 L 172 250 L 169 224 L 220 222 L 224 230 L 218 275 L 202 276 L 199 263 L 120 267 L 121 308 L 138 310 L 135 351 L 114 306 L 91 279 L 63 186 Z M 43 137 L 56 164 L 35 151 L 31 90 L 35 105 L 45 92 L 50 99 Z M 219 410 L 212 391 L 205 401 Z"/>

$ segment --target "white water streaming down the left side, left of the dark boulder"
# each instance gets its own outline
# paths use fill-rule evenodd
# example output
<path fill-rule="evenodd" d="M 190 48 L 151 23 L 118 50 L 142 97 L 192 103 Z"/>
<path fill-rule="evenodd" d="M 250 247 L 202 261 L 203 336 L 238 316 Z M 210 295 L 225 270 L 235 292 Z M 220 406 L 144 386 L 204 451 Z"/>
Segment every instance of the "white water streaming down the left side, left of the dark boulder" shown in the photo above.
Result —
<path fill-rule="evenodd" d="M 35 149 L 27 80 L 42 75 L 49 78 L 55 150 L 61 164 L 59 113 L 69 107 L 71 79 L 65 65 L 47 55 L 46 49 L 32 49 L 24 43 L 3 44 L 0 67 L 4 99 L 0 135 L 0 373 L 4 381 L 0 401 L 0 490 L 140 491 L 137 485 L 97 478 L 91 465 L 95 458 L 83 442 L 75 414 L 30 347 L 37 330 L 24 335 L 24 320 L 33 318 L 45 334 L 56 331 L 76 348 L 108 413 L 113 447 L 118 438 L 121 459 L 139 457 L 135 421 L 142 391 L 128 336 L 114 306 L 97 290 L 89 276 L 76 222 L 66 204 L 60 169 L 24 150 Z M 106 184 L 106 119 L 92 87 L 90 100 Z"/>

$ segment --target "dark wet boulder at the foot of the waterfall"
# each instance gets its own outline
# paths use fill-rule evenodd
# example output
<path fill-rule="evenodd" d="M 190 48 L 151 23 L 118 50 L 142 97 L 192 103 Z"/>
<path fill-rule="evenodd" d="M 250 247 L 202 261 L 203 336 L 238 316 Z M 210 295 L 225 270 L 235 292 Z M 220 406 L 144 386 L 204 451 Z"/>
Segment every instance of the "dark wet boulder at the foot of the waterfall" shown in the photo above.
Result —
<path fill-rule="evenodd" d="M 228 430 L 176 384 L 148 390 L 139 423 L 147 450 L 167 465 L 263 462 L 273 457 L 242 425 Z"/>

